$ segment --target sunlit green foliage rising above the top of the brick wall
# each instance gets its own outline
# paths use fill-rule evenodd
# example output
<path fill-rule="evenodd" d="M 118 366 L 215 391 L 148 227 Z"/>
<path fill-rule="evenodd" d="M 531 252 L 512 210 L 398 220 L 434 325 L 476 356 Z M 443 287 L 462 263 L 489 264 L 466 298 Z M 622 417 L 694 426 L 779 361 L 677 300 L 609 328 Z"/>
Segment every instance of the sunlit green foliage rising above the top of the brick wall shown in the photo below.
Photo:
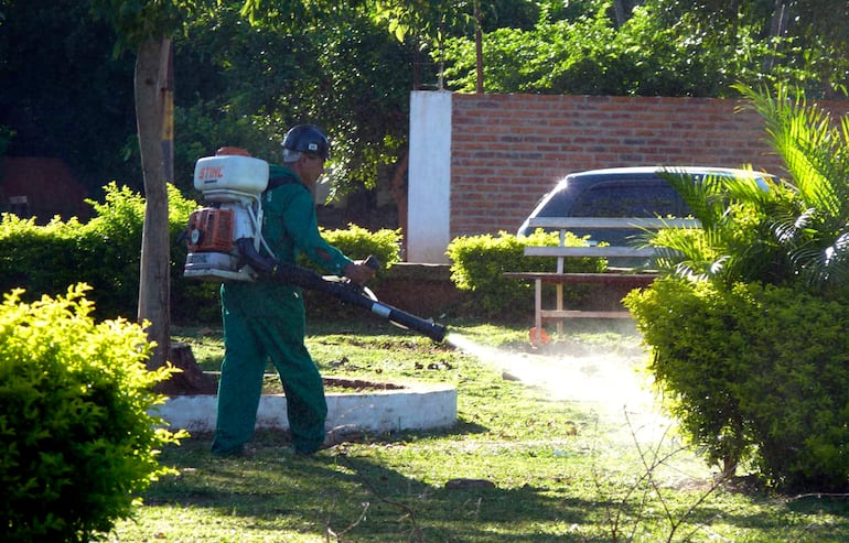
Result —
<path fill-rule="evenodd" d="M 827 53 L 841 50 L 842 42 L 826 44 L 806 34 L 812 19 L 794 25 L 791 35 L 771 35 L 774 13 L 765 2 L 640 3 L 621 25 L 610 2 L 595 2 L 562 19 L 544 10 L 533 29 L 505 25 L 488 32 L 485 89 L 724 97 L 733 95 L 738 80 L 783 82 L 817 91 L 823 91 L 821 82 L 846 83 L 841 55 Z M 476 52 L 468 35 L 452 35 L 437 54 L 447 62 L 450 88 L 475 89 Z"/>

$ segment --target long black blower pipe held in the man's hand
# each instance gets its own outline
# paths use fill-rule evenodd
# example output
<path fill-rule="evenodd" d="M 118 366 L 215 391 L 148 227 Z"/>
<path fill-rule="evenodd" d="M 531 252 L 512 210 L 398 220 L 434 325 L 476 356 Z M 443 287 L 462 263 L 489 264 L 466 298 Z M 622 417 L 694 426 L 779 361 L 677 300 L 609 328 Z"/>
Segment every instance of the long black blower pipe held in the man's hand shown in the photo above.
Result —
<path fill-rule="evenodd" d="M 442 341 L 445 338 L 447 329 L 443 325 L 417 317 L 416 315 L 393 307 L 391 305 L 384 304 L 377 300 L 372 300 L 354 283 L 327 281 L 312 270 L 262 257 L 254 249 L 254 241 L 251 239 L 239 239 L 236 241 L 236 245 L 254 270 L 275 281 L 281 281 L 313 291 L 325 292 L 336 296 L 343 302 L 364 307 L 391 323 L 418 332 L 434 341 Z M 369 257 L 365 263 L 375 269 L 379 265 L 377 259 L 374 257 Z"/>

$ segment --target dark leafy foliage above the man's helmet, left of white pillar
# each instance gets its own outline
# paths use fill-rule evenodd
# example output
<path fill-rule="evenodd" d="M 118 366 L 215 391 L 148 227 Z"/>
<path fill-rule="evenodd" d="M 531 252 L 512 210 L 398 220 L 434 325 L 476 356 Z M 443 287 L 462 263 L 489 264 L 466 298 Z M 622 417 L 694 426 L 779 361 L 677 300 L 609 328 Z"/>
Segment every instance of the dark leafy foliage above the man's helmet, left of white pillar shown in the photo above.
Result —
<path fill-rule="evenodd" d="M 404 151 L 413 51 L 374 24 L 356 3 L 255 17 L 229 2 L 189 21 L 175 40 L 175 172 L 187 189 L 198 156 L 241 146 L 271 162 L 291 126 L 311 122 L 331 139 L 334 192 L 374 188 Z M 300 6 L 300 8 L 299 8 Z M 250 12 L 267 7 L 255 3 Z M 309 32 L 303 32 L 309 28 Z M 262 85 L 257 85 L 261 79 Z M 375 115 L 379 111 L 379 115 Z"/>

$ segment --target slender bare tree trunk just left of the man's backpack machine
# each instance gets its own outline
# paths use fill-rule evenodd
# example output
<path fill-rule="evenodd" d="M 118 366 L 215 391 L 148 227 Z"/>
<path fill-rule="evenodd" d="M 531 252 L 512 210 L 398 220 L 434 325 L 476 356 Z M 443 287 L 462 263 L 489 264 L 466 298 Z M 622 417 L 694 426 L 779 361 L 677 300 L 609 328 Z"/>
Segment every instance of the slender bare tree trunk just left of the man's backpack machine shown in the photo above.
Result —
<path fill-rule="evenodd" d="M 139 323 L 147 323 L 148 337 L 155 343 L 148 367 L 165 365 L 170 345 L 170 261 L 168 189 L 163 137 L 171 99 L 171 40 L 151 39 L 136 58 L 136 122 L 139 132 L 141 170 L 144 176 L 144 227 L 139 273 Z"/>

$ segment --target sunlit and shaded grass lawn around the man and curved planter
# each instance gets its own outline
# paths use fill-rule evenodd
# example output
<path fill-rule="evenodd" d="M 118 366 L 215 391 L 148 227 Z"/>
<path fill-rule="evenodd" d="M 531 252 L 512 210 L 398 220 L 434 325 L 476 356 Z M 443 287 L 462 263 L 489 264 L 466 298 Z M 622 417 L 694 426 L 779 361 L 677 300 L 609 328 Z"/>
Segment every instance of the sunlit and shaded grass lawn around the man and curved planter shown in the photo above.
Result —
<path fill-rule="evenodd" d="M 644 360 L 633 329 L 576 323 L 540 357 L 524 325 L 447 324 L 449 339 L 470 350 L 369 317 L 310 323 L 308 339 L 326 376 L 454 384 L 454 427 L 366 435 L 308 458 L 293 456 L 281 433 L 258 433 L 249 455 L 227 459 L 208 453 L 211 436 L 194 435 L 163 450 L 180 475 L 154 482 L 109 540 L 849 541 L 845 497 L 719 485 L 673 428 L 646 437 L 642 420 L 588 401 L 621 400 L 624 389 L 603 383 L 631 379 Z M 204 369 L 218 369 L 219 329 L 174 332 Z M 475 345 L 483 355 L 471 354 Z M 568 363 L 571 372 L 513 377 Z"/>

